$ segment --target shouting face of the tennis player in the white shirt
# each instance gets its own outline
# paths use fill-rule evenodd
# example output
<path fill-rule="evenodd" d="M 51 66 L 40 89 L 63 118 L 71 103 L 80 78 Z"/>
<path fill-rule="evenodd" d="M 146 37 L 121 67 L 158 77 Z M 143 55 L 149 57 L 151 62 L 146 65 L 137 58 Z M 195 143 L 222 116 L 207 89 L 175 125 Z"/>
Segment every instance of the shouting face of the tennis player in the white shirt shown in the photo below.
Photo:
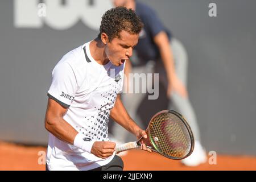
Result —
<path fill-rule="evenodd" d="M 106 56 L 113 65 L 120 66 L 133 55 L 133 48 L 137 45 L 138 40 L 139 34 L 130 34 L 122 30 L 119 32 L 119 38 L 113 38 L 106 44 Z"/>

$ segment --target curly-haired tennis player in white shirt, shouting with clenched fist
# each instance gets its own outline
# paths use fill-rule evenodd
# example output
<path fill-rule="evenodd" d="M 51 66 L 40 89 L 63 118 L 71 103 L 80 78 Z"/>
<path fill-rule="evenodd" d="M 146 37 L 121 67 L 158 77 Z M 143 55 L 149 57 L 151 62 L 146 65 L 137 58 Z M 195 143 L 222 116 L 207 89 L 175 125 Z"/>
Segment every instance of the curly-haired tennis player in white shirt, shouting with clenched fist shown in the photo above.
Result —
<path fill-rule="evenodd" d="M 109 117 L 137 138 L 147 138 L 119 96 L 125 62 L 142 27 L 133 10 L 110 9 L 102 16 L 98 37 L 56 64 L 45 118 L 46 170 L 122 170 L 122 159 L 108 138 Z M 151 152 L 145 144 L 142 149 Z"/>

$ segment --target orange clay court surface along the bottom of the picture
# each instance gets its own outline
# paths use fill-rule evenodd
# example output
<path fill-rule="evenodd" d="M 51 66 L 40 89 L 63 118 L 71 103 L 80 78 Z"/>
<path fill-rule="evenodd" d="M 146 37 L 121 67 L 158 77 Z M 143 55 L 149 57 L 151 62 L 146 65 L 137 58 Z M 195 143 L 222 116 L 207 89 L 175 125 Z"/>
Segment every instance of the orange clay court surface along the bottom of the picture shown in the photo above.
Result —
<path fill-rule="evenodd" d="M 0 142 L 0 170 L 44 171 L 46 147 L 26 147 Z M 179 161 L 166 159 L 156 153 L 130 150 L 121 158 L 125 170 L 256 170 L 256 156 L 217 155 L 217 164 L 208 162 L 198 167 L 185 167 Z M 209 156 L 210 158 L 210 156 Z"/>

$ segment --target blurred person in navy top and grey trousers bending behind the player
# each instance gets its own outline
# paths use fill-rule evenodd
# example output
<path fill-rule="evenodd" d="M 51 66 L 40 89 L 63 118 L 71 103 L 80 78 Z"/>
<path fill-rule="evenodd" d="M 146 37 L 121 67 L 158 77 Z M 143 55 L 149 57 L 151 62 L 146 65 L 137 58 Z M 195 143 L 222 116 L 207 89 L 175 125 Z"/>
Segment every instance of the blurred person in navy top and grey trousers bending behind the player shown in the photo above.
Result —
<path fill-rule="evenodd" d="M 170 31 L 163 26 L 155 11 L 151 7 L 135 0 L 113 0 L 114 5 L 125 6 L 135 10 L 141 18 L 144 27 L 139 34 L 139 42 L 134 48 L 131 62 L 127 61 L 125 74 L 129 73 L 159 73 L 160 81 L 167 89 L 170 98 L 168 109 L 176 110 L 183 114 L 189 122 L 195 137 L 195 149 L 191 156 L 181 162 L 186 166 L 197 166 L 206 162 L 207 156 L 201 145 L 200 131 L 197 124 L 195 111 L 188 98 L 187 91 L 187 64 L 188 57 L 185 48 L 175 39 Z M 127 87 L 129 80 L 127 80 Z M 127 90 L 127 88 L 126 88 Z M 145 94 L 123 93 L 122 101 L 131 118 L 142 127 L 141 118 L 137 114 L 138 106 Z M 129 142 L 129 133 L 114 123 L 112 137 L 118 142 Z"/>

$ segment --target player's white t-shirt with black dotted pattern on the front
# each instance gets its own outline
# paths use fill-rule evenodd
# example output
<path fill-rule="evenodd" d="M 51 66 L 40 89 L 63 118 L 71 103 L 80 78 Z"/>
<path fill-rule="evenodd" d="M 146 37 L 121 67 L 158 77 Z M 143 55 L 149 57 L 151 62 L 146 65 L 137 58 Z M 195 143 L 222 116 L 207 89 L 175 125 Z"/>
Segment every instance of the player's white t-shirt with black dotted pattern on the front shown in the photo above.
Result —
<path fill-rule="evenodd" d="M 90 141 L 108 141 L 108 121 L 117 94 L 122 92 L 125 64 L 98 64 L 85 43 L 68 52 L 52 72 L 48 97 L 68 107 L 64 115 L 79 133 Z M 104 166 L 114 158 L 98 158 L 49 134 L 49 170 L 89 170 Z"/>

